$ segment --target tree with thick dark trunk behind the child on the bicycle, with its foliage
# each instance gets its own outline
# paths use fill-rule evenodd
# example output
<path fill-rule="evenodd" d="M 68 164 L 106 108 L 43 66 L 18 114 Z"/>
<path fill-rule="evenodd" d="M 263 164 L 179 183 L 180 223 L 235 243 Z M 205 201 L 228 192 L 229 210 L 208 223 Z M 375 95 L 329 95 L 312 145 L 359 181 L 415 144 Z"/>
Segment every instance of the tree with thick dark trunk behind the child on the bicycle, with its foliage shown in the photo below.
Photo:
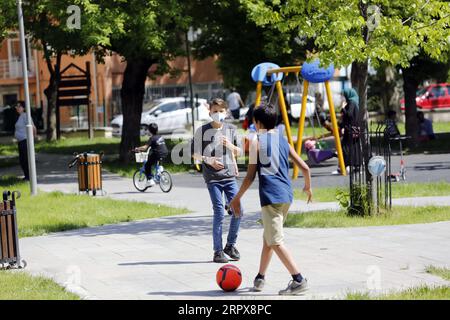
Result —
<path fill-rule="evenodd" d="M 175 0 L 96 0 L 102 15 L 113 17 L 107 54 L 114 51 L 127 62 L 122 82 L 122 139 L 120 161 L 130 160 L 129 150 L 140 144 L 140 121 L 148 70 L 157 64 L 167 71 L 167 61 L 184 54 L 183 39 L 190 18 L 185 5 Z"/>

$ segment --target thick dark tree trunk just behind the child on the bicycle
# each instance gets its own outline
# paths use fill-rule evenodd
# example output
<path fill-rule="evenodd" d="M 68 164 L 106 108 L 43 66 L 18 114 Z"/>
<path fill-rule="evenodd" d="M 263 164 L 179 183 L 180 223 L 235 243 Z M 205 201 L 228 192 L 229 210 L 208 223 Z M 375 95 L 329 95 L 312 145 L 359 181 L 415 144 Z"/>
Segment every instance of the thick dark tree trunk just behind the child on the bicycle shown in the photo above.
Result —
<path fill-rule="evenodd" d="M 140 146 L 140 127 L 142 104 L 145 94 L 145 81 L 148 69 L 155 63 L 152 59 L 133 59 L 127 62 L 122 81 L 120 97 L 122 99 L 122 139 L 120 141 L 119 160 L 129 163 L 130 150 Z"/>

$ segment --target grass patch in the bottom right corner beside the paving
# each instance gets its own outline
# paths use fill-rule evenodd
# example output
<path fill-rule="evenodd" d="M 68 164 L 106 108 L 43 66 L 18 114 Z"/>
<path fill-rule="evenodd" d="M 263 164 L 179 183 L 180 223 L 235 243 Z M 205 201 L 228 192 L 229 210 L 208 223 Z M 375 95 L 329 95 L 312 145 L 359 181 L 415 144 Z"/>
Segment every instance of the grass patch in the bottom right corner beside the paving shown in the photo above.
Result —
<path fill-rule="evenodd" d="M 429 266 L 425 270 L 428 273 L 439 276 L 450 281 L 450 269 L 437 268 Z M 449 300 L 450 286 L 420 286 L 402 290 L 399 292 L 390 292 L 380 296 L 371 296 L 368 293 L 349 293 L 347 300 Z"/>

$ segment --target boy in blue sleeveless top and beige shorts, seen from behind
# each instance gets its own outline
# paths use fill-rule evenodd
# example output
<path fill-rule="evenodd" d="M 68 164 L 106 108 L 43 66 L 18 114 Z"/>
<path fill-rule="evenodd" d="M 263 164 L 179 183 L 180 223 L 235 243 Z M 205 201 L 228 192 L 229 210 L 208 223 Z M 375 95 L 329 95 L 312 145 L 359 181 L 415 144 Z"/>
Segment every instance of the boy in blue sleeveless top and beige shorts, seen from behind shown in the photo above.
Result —
<path fill-rule="evenodd" d="M 261 217 L 264 226 L 263 248 L 259 273 L 254 281 L 254 290 L 264 287 L 267 268 L 273 252 L 280 258 L 292 275 L 288 287 L 280 295 L 295 295 L 307 289 L 307 281 L 300 274 L 290 252 L 283 242 L 283 223 L 293 200 L 291 180 L 289 177 L 289 157 L 294 161 L 305 177 L 303 191 L 312 199 L 311 175 L 309 167 L 298 156 L 284 136 L 275 130 L 277 113 L 271 105 L 260 106 L 253 113 L 258 130 L 258 139 L 250 145 L 250 162 L 242 186 L 231 201 L 230 206 L 236 216 L 240 215 L 241 198 L 253 183 L 256 173 L 259 179 L 259 197 Z"/>

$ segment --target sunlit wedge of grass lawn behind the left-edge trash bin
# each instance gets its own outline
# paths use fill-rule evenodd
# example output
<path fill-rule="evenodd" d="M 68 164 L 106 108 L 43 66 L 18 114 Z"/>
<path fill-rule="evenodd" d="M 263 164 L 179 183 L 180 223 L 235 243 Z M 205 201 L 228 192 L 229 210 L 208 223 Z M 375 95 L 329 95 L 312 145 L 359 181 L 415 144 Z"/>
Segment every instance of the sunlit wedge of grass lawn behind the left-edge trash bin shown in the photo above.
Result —
<path fill-rule="evenodd" d="M 61 192 L 40 192 L 31 197 L 29 185 L 12 177 L 1 177 L 0 188 L 22 193 L 17 200 L 20 237 L 188 213 L 186 209 L 145 202 Z"/>

